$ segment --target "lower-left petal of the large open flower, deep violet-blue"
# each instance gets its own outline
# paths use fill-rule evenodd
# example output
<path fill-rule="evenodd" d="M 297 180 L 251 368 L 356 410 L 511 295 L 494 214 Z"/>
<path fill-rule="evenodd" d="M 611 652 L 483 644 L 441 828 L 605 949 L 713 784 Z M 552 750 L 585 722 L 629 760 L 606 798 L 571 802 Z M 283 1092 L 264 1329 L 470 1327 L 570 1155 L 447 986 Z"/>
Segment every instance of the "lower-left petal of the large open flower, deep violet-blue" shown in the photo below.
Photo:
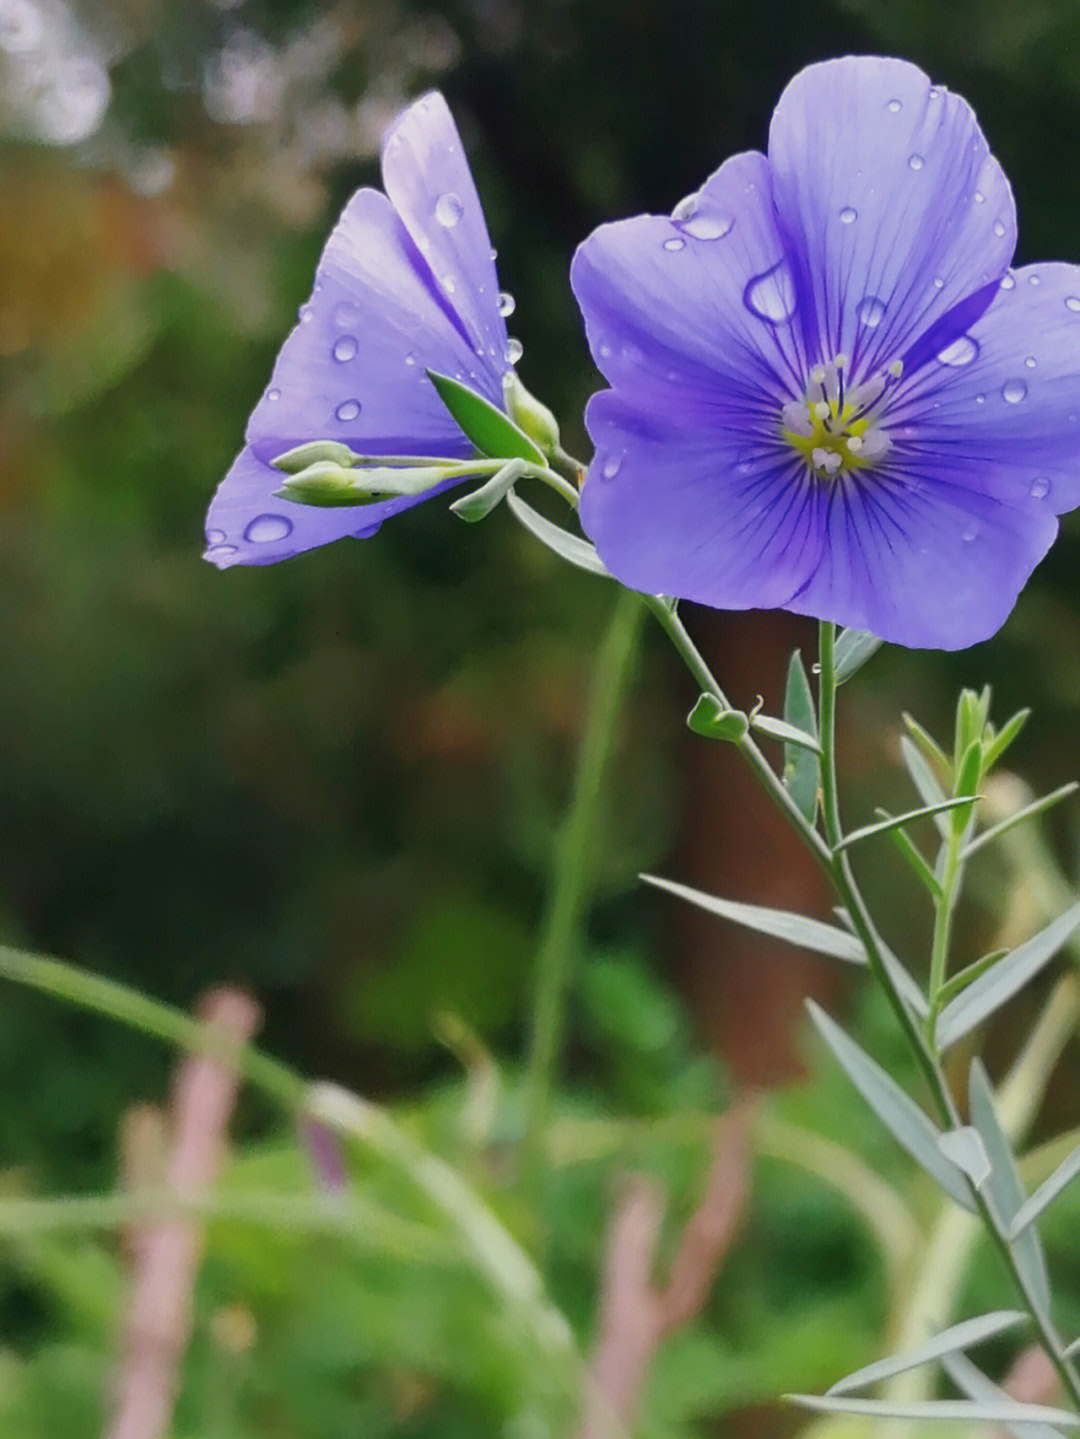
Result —
<path fill-rule="evenodd" d="M 676 429 L 615 391 L 590 400 L 581 524 L 624 584 L 716 609 L 784 609 L 820 563 L 820 486 L 778 446 Z"/>

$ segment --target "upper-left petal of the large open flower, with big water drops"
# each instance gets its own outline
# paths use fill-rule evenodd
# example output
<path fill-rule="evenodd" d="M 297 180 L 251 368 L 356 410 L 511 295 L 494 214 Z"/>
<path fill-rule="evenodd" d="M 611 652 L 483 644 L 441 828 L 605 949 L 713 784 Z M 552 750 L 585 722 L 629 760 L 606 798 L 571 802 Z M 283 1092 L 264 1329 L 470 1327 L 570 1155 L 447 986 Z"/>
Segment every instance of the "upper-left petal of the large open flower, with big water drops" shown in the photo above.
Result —
<path fill-rule="evenodd" d="M 624 396 L 689 410 L 768 399 L 775 416 L 801 393 L 805 357 L 768 161 L 732 157 L 680 213 L 603 224 L 578 246 L 569 278 L 592 357 Z"/>

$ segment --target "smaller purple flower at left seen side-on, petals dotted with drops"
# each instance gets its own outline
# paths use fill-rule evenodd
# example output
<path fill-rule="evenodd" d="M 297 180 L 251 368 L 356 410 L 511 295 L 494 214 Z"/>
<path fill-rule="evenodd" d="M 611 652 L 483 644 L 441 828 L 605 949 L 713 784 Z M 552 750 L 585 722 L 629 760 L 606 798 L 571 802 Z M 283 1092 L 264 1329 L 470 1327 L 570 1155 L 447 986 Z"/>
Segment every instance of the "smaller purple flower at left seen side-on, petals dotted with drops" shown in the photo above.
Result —
<path fill-rule="evenodd" d="M 503 404 L 513 354 L 495 252 L 441 95 L 424 95 L 391 128 L 383 183 L 385 194 L 358 190 L 345 206 L 246 445 L 213 498 L 206 558 L 221 568 L 367 538 L 388 515 L 460 484 L 361 508 L 292 504 L 275 498 L 285 476 L 270 460 L 293 446 L 341 440 L 361 455 L 472 455 L 426 370 Z"/>

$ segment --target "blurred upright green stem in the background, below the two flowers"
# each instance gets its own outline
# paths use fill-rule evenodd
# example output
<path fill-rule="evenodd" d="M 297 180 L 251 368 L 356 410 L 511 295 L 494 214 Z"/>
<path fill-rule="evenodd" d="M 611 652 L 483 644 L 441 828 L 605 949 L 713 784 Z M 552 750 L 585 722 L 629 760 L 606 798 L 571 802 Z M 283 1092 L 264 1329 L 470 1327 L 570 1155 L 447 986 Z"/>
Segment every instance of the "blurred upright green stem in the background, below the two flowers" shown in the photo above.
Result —
<path fill-rule="evenodd" d="M 601 809 L 601 786 L 637 656 L 641 614 L 637 594 L 620 590 L 597 656 L 574 791 L 555 842 L 548 905 L 536 953 L 536 997 L 525 1076 L 523 1168 L 532 1179 L 544 1164 L 567 993 L 592 878 L 590 856 Z"/>

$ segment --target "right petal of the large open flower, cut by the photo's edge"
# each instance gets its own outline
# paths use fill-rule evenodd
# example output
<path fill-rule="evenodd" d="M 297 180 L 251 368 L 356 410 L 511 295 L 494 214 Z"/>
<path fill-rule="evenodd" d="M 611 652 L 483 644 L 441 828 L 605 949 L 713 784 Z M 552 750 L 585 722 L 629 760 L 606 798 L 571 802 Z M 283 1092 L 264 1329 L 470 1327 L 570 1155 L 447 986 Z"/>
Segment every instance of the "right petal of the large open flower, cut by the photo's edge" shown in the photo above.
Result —
<path fill-rule="evenodd" d="M 966 335 L 897 393 L 905 448 L 972 489 L 1063 514 L 1080 505 L 1080 266 L 1010 273 Z"/>

